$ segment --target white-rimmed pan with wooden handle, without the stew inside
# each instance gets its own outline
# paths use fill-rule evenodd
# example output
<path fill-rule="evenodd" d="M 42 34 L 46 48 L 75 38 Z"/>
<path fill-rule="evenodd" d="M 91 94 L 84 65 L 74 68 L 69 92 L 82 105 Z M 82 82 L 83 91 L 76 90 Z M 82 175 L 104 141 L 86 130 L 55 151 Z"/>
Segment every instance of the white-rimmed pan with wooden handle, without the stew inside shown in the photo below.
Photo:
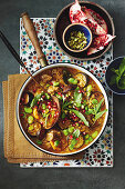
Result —
<path fill-rule="evenodd" d="M 102 126 L 102 130 L 100 132 L 100 135 L 97 136 L 97 138 L 95 138 L 93 140 L 93 142 L 91 142 L 87 147 L 81 149 L 81 150 L 77 150 L 75 152 L 71 152 L 71 153 L 55 153 L 55 152 L 51 152 L 51 151 L 48 151 L 48 150 L 44 150 L 42 149 L 40 146 L 38 146 L 37 143 L 34 143 L 32 141 L 32 139 L 28 136 L 28 133 L 24 131 L 23 129 L 23 126 L 21 125 L 21 120 L 20 120 L 20 115 L 19 115 L 19 108 L 20 108 L 20 100 L 21 100 L 21 96 L 24 91 L 24 89 L 27 88 L 27 86 L 32 81 L 32 78 L 29 77 L 28 80 L 22 84 L 22 88 L 19 92 L 19 96 L 18 96 L 18 100 L 17 100 L 17 120 L 18 120 L 18 123 L 19 123 L 19 127 L 23 133 L 23 136 L 27 138 L 27 140 L 29 142 L 31 142 L 31 145 L 33 145 L 35 148 L 38 148 L 39 150 L 41 151 L 44 151 L 44 152 L 48 152 L 48 153 L 51 153 L 51 155 L 56 155 L 56 156 L 67 156 L 67 155 L 74 155 L 74 153 L 77 153 L 77 152 L 81 152 L 83 150 L 85 150 L 86 148 L 88 148 L 90 146 L 92 146 L 98 138 L 100 136 L 102 135 L 105 126 L 106 126 L 106 121 L 107 121 L 107 116 L 108 116 L 108 101 L 107 101 L 107 96 L 106 96 L 106 92 L 102 86 L 102 83 L 91 73 L 88 72 L 87 70 L 85 70 L 84 68 L 80 67 L 80 66 L 75 66 L 75 64 L 72 64 L 72 63 L 55 63 L 55 64 L 49 64 L 46 59 L 45 59 L 45 56 L 44 53 L 42 52 L 41 50 L 41 47 L 39 44 L 39 40 L 38 40 L 38 37 L 37 37 L 37 32 L 35 32 L 35 29 L 33 27 L 33 23 L 32 21 L 30 20 L 28 13 L 23 13 L 22 14 L 22 20 L 23 20 L 23 26 L 25 28 L 25 31 L 29 36 L 29 38 L 31 39 L 31 42 L 32 44 L 34 46 L 35 48 L 35 51 L 37 51 L 37 54 L 38 54 L 38 59 L 40 61 L 40 63 L 42 64 L 42 69 L 38 70 L 35 73 L 33 73 L 33 78 L 35 78 L 38 74 L 41 74 L 43 71 L 45 70 L 49 70 L 49 69 L 52 69 L 52 68 L 56 68 L 56 67 L 66 67 L 66 68 L 74 68 L 76 70 L 79 70 L 80 72 L 84 72 L 86 73 L 88 77 L 91 77 L 96 83 L 97 86 L 100 87 L 103 96 L 104 96 L 104 99 L 105 99 L 105 105 L 106 105 L 106 109 L 107 109 L 107 112 L 105 113 L 105 119 L 104 119 L 104 123 Z"/>

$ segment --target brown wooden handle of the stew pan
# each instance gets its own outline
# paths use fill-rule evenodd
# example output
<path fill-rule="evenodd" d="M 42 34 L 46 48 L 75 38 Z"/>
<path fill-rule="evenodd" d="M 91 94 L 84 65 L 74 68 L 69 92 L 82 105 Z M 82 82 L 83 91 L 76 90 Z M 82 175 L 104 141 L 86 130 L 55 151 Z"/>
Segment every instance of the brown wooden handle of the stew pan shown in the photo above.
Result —
<path fill-rule="evenodd" d="M 46 61 L 45 54 L 42 52 L 37 32 L 35 32 L 35 28 L 29 17 L 28 12 L 22 13 L 21 17 L 22 17 L 24 29 L 25 29 L 35 51 L 37 51 L 39 62 L 41 63 L 42 67 L 49 64 Z"/>

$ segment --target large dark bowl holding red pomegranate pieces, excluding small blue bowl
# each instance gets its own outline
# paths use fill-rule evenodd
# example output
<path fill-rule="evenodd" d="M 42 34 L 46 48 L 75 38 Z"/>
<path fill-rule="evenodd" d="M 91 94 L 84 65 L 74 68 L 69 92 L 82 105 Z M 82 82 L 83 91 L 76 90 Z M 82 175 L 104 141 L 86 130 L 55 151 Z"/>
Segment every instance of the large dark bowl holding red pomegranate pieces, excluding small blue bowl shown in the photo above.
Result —
<path fill-rule="evenodd" d="M 69 49 L 63 38 L 66 28 L 76 23 L 86 26 L 92 32 L 90 47 L 79 53 L 76 49 Z M 54 38 L 58 46 L 69 57 L 76 60 L 94 60 L 111 48 L 115 38 L 115 28 L 112 17 L 103 7 L 94 2 L 75 0 L 59 12 L 54 23 Z"/>

